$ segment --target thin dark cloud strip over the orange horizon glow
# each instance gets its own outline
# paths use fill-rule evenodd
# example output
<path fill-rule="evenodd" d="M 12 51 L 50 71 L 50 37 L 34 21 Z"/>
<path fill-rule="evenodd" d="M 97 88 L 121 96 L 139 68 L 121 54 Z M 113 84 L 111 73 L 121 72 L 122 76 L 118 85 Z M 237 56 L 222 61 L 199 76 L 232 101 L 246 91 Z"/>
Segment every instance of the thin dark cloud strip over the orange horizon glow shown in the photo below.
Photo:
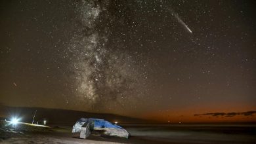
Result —
<path fill-rule="evenodd" d="M 223 116 L 223 117 L 234 117 L 237 115 L 243 115 L 243 116 L 252 116 L 256 113 L 256 111 L 246 111 L 246 112 L 241 112 L 241 113 L 236 113 L 236 112 L 232 112 L 232 113 L 203 113 L 203 114 L 195 114 L 194 116 L 203 116 L 203 115 L 210 115 L 213 117 L 219 117 L 219 116 Z"/>

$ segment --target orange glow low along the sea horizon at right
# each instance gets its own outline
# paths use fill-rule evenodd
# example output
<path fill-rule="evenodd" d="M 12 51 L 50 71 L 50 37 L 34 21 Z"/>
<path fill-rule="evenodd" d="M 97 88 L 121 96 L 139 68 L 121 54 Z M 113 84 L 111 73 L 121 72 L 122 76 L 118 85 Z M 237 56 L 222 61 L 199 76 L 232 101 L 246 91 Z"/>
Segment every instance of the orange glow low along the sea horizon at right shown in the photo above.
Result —
<path fill-rule="evenodd" d="M 180 109 L 179 111 L 152 111 L 151 113 L 146 113 L 144 118 L 151 120 L 158 120 L 160 122 L 169 122 L 169 123 L 200 123 L 200 122 L 256 122 L 256 112 L 253 114 L 245 115 L 242 113 L 248 112 L 248 107 L 243 107 L 244 109 L 224 109 L 223 107 L 218 107 L 215 110 L 210 109 L 199 109 L 199 107 L 193 107 L 193 109 Z M 246 109 L 247 108 L 247 109 Z M 255 109 L 249 107 L 249 109 Z M 223 111 L 225 110 L 225 111 Z M 195 112 L 197 111 L 197 112 Z M 228 113 L 235 113 L 234 115 L 227 115 Z M 209 115 L 212 113 L 212 115 Z M 224 115 L 213 114 L 224 113 Z M 208 115 L 203 115 L 208 114 Z M 195 116 L 197 115 L 197 116 Z"/>

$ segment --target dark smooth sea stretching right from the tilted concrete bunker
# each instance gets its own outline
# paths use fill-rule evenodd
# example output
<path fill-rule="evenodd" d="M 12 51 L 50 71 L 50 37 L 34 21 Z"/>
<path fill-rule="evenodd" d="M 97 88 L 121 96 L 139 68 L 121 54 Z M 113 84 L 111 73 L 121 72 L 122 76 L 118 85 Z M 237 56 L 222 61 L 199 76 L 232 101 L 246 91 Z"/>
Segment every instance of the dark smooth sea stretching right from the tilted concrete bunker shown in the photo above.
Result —
<path fill-rule="evenodd" d="M 256 143 L 256 124 L 123 124 L 131 139 L 156 143 Z"/>

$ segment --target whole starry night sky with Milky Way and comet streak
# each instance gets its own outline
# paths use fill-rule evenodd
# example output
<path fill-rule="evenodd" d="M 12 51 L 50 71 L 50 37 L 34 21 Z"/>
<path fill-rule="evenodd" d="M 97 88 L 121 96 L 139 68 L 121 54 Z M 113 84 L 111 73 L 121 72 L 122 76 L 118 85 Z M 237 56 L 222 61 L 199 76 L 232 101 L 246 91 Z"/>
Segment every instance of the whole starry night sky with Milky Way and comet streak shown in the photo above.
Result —
<path fill-rule="evenodd" d="M 0 104 L 256 120 L 255 4 L 1 1 Z"/>

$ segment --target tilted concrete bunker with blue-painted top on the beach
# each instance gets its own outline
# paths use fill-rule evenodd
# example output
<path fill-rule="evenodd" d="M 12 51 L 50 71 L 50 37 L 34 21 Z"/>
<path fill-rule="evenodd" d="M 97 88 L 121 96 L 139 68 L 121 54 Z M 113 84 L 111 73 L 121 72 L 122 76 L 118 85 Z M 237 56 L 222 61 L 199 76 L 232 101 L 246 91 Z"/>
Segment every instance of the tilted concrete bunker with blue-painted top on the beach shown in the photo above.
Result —
<path fill-rule="evenodd" d="M 117 126 L 116 124 L 98 118 L 80 118 L 75 122 L 72 134 L 73 137 L 87 139 L 93 131 L 101 132 L 102 135 L 106 136 L 129 137 L 129 132 L 121 126 Z"/>

